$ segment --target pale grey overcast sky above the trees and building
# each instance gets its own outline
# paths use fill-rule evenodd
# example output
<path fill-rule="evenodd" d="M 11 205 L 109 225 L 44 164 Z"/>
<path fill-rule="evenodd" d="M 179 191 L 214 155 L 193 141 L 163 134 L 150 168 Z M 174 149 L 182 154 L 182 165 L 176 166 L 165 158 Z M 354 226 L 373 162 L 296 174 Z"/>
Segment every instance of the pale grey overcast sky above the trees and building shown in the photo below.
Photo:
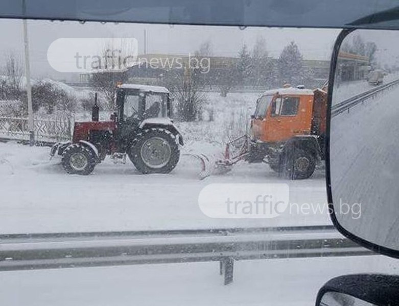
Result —
<path fill-rule="evenodd" d="M 22 22 L 20 20 L 0 20 L 0 63 L 4 64 L 3 54 L 15 50 L 23 55 Z M 237 56 L 243 43 L 250 48 L 257 37 L 266 39 L 269 56 L 278 57 L 281 50 L 294 40 L 305 59 L 328 60 L 332 46 L 339 33 L 334 29 L 278 29 L 238 27 L 204 27 L 160 24 L 101 24 L 98 22 L 29 21 L 29 46 L 32 77 L 52 77 L 70 79 L 70 74 L 55 71 L 46 59 L 50 44 L 64 37 L 127 37 L 138 40 L 138 53 L 144 53 L 144 30 L 147 33 L 147 53 L 188 55 L 198 49 L 204 41 L 212 44 L 215 56 Z M 392 33 L 391 41 L 399 41 L 398 31 Z M 381 40 L 381 35 L 371 35 Z M 386 39 L 386 38 L 385 38 Z M 381 42 L 380 42 L 381 44 Z M 382 43 L 384 44 L 384 43 Z M 397 50 L 397 48 L 395 48 Z"/>

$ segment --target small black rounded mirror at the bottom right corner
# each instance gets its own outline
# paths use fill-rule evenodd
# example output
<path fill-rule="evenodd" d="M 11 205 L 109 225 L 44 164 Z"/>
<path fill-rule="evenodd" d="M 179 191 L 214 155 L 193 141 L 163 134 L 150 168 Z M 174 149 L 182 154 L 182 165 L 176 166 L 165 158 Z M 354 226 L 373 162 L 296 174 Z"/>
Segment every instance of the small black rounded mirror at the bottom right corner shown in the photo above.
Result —
<path fill-rule="evenodd" d="M 344 275 L 331 279 L 320 290 L 316 306 L 390 306 L 399 300 L 399 276 Z"/>

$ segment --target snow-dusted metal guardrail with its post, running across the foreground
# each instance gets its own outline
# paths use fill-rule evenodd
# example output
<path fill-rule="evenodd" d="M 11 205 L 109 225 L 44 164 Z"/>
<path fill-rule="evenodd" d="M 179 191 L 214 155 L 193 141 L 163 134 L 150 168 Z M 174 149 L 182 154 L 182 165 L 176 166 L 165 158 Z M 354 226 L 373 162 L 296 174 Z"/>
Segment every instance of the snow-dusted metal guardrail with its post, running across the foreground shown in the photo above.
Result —
<path fill-rule="evenodd" d="M 0 271 L 371 255 L 333 226 L 0 235 Z"/>

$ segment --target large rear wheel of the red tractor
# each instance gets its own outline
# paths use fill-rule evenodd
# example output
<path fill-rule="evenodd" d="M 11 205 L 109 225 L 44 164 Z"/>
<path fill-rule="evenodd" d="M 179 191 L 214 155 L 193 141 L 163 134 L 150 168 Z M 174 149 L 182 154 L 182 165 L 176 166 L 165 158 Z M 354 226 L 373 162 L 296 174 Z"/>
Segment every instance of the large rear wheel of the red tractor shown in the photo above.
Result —
<path fill-rule="evenodd" d="M 171 132 L 154 128 L 144 130 L 136 136 L 128 150 L 128 156 L 143 174 L 169 173 L 179 161 L 180 149 Z"/>

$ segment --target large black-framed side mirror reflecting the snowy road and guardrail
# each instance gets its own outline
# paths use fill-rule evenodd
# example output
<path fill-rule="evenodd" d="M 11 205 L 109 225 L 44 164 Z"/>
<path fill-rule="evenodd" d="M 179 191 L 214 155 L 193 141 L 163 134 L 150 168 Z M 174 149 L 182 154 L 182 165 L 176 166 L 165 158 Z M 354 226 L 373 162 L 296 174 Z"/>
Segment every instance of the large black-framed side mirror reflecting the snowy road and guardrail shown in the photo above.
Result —
<path fill-rule="evenodd" d="M 343 30 L 328 88 L 326 177 L 334 225 L 347 238 L 399 257 L 398 31 Z M 373 80 L 372 80 L 373 79 Z"/>

